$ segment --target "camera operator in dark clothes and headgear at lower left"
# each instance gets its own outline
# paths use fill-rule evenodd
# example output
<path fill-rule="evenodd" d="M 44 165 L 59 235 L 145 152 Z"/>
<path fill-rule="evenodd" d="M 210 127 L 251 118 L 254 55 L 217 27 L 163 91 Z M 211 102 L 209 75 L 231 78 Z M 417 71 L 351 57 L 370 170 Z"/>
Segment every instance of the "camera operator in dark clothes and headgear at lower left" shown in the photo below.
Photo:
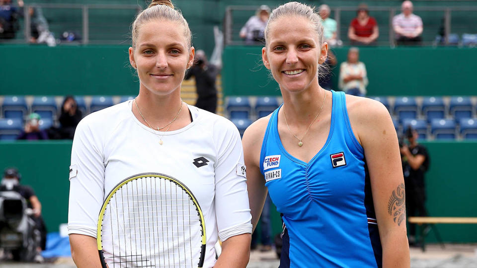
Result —
<path fill-rule="evenodd" d="M 42 263 L 43 257 L 41 257 L 41 251 L 46 248 L 46 225 L 41 216 L 41 203 L 35 195 L 35 192 L 31 187 L 26 185 L 20 185 L 21 175 L 16 168 L 6 168 L 3 172 L 3 178 L 1 180 L 0 191 L 15 191 L 22 196 L 28 208 L 33 209 L 33 214 L 30 216 L 35 221 L 36 229 L 40 231 L 40 247 L 36 249 L 37 255 L 35 256 L 35 262 Z"/>

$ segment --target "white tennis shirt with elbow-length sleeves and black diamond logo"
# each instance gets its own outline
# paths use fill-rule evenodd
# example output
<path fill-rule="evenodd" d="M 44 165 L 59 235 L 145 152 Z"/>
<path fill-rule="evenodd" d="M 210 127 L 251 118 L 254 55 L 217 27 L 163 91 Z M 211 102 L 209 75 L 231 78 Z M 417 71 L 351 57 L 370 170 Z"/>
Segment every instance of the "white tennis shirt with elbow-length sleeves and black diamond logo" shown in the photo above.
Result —
<path fill-rule="evenodd" d="M 134 116 L 132 104 L 114 105 L 79 122 L 71 155 L 68 233 L 96 238 L 101 205 L 119 182 L 162 173 L 181 181 L 198 200 L 206 223 L 204 267 L 212 267 L 218 236 L 225 241 L 252 231 L 239 132 L 228 119 L 194 106 L 188 106 L 191 124 L 158 132 Z M 200 157 L 209 162 L 197 167 L 194 159 Z"/>

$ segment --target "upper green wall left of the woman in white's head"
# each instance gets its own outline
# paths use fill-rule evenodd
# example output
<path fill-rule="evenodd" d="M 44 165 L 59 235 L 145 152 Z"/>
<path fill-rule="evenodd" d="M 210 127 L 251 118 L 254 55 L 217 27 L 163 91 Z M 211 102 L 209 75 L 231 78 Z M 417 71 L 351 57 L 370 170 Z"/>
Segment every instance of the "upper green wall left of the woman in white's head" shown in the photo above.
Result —
<path fill-rule="evenodd" d="M 0 95 L 135 95 L 128 48 L 0 46 Z"/>

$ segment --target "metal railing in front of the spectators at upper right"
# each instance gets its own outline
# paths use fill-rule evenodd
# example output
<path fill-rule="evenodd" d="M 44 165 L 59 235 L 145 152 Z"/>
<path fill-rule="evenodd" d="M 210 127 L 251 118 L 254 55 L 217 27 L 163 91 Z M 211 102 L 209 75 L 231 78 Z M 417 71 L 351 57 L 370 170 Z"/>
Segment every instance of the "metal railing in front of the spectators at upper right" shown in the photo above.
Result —
<path fill-rule="evenodd" d="M 255 10 L 258 8 L 258 6 L 241 6 L 241 5 L 231 5 L 228 6 L 225 12 L 225 18 L 224 18 L 224 42 L 225 45 L 246 45 L 246 43 L 239 38 L 238 36 L 238 31 L 239 27 L 242 27 L 245 24 L 245 21 L 243 19 L 240 22 L 237 22 L 236 20 L 236 15 L 235 13 L 239 13 L 243 11 L 249 11 L 249 15 L 251 16 L 254 14 Z M 345 44 L 349 43 L 347 42 L 348 36 L 347 36 L 347 28 L 349 25 L 350 21 L 346 21 L 343 23 L 342 21 L 342 14 L 344 12 L 349 12 L 349 11 L 356 11 L 358 9 L 357 6 L 342 6 L 342 7 L 332 7 L 331 8 L 331 15 L 334 20 L 336 20 L 337 23 L 337 33 L 336 36 L 338 39 L 344 40 Z M 369 6 L 368 7 L 370 11 L 370 15 L 373 16 L 373 11 L 374 12 L 385 12 L 388 15 L 388 31 L 385 32 L 388 34 L 388 38 L 386 41 L 378 39 L 376 42 L 377 45 L 382 45 L 382 46 L 391 46 L 394 47 L 396 45 L 395 43 L 395 35 L 394 35 L 394 29 L 393 29 L 393 17 L 400 12 L 400 7 L 389 7 L 389 6 Z M 443 28 L 444 28 L 444 40 L 441 44 L 443 45 L 449 45 L 449 35 L 451 34 L 452 31 L 452 12 L 454 11 L 477 11 L 477 6 L 453 6 L 453 7 L 443 7 L 443 6 L 416 6 L 414 7 L 414 13 L 416 15 L 419 15 L 419 12 L 424 12 L 424 11 L 430 11 L 430 12 L 442 12 L 443 16 L 439 16 L 436 14 L 436 20 L 438 18 L 443 17 Z M 474 18 L 477 17 L 477 12 L 474 16 Z M 248 17 L 247 17 L 248 19 Z M 240 23 L 238 25 L 238 23 Z M 438 21 L 433 21 L 434 26 L 440 22 Z M 469 23 L 472 23 L 469 21 Z M 378 20 L 378 26 L 380 27 L 380 35 L 382 35 L 382 25 L 380 24 L 386 24 L 384 21 L 379 21 Z M 424 26 L 424 32 L 426 31 L 426 22 L 423 22 Z M 239 26 L 239 27 L 238 27 Z M 434 27 L 438 28 L 438 27 Z M 346 33 L 343 33 L 343 31 L 346 30 Z M 423 34 L 424 34 L 423 32 Z M 476 32 L 477 33 L 477 30 Z M 437 31 L 436 31 L 437 35 Z M 432 36 L 432 40 L 423 40 L 422 45 L 435 45 L 435 36 Z M 429 36 L 429 35 L 428 35 Z"/>

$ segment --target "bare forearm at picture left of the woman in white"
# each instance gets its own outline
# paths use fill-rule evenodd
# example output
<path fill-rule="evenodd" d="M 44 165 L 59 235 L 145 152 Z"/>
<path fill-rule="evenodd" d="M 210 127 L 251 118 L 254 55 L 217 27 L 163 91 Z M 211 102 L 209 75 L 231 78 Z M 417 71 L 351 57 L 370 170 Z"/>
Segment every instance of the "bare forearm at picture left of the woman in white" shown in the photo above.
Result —
<path fill-rule="evenodd" d="M 80 235 L 70 235 L 71 257 L 78 268 L 101 268 L 96 238 Z"/>

